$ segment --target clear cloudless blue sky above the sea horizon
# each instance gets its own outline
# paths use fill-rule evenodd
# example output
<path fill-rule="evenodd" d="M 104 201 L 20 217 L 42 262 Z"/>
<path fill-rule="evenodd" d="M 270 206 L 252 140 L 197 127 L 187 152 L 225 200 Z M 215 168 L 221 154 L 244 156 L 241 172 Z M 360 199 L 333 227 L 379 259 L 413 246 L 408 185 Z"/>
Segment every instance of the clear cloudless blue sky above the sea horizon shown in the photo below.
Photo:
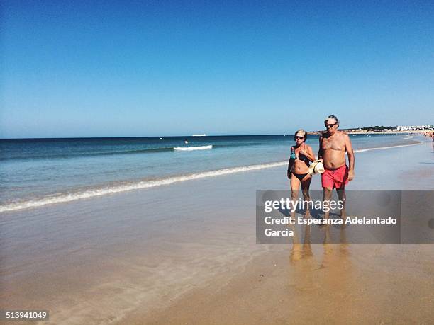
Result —
<path fill-rule="evenodd" d="M 0 137 L 434 123 L 432 1 L 2 1 L 0 46 Z"/>

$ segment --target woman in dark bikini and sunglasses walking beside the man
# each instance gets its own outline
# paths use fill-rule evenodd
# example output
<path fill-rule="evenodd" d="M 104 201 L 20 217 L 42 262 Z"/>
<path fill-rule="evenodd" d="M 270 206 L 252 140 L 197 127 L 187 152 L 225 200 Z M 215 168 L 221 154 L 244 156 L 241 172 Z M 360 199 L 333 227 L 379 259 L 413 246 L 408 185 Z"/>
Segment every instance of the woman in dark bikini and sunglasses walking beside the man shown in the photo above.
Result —
<path fill-rule="evenodd" d="M 299 198 L 299 188 L 303 191 L 305 201 L 309 198 L 309 186 L 311 186 L 311 175 L 309 174 L 309 164 L 315 161 L 315 155 L 311 146 L 306 144 L 307 132 L 298 130 L 295 132 L 294 140 L 296 145 L 291 147 L 291 156 L 288 163 L 288 178 L 291 180 L 291 200 L 294 202 Z M 306 207 L 306 215 L 309 214 Z M 295 212 L 294 212 L 295 215 Z"/>

